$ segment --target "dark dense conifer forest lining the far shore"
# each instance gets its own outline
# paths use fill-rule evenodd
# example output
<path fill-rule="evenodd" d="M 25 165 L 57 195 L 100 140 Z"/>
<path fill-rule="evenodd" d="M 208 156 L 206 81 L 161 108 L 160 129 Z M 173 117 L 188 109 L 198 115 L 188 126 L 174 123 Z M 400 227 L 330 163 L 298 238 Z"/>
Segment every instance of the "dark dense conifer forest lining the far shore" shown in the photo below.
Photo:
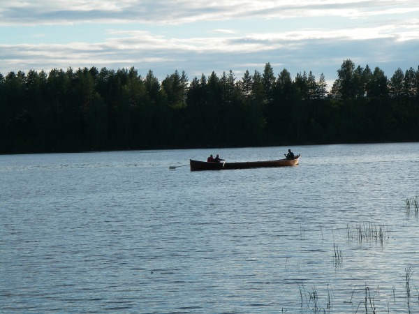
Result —
<path fill-rule="evenodd" d="M 135 68 L 0 74 L 0 154 L 419 141 L 419 68 L 322 74 Z"/>

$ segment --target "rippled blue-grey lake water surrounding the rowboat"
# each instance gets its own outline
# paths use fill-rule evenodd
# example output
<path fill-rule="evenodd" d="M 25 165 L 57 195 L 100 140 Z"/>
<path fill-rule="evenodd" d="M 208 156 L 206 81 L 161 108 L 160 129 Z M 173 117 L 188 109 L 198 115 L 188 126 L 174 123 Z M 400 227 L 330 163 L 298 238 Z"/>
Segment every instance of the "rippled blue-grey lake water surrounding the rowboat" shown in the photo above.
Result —
<path fill-rule="evenodd" d="M 418 313 L 418 174 L 418 143 L 0 156 L 0 312 Z"/>

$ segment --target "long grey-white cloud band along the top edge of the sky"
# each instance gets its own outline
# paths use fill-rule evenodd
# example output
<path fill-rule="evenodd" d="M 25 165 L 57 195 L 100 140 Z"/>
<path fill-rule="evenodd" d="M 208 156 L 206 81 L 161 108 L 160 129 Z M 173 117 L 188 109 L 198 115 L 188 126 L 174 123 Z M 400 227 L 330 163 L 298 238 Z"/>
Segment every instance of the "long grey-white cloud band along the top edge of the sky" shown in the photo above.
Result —
<path fill-rule="evenodd" d="M 419 11 L 416 1 L 372 0 L 119 0 L 0 1 L 0 23 L 68 24 L 81 22 L 182 24 L 203 20 L 290 19 L 394 15 Z"/>

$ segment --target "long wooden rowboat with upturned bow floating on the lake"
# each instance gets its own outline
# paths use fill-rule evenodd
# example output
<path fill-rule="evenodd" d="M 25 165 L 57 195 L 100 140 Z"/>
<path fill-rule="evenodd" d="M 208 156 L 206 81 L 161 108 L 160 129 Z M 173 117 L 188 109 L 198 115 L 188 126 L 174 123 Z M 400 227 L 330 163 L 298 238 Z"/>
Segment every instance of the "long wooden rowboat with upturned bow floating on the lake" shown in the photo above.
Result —
<path fill-rule="evenodd" d="M 300 155 L 296 156 L 295 159 L 278 159 L 278 160 L 266 160 L 266 161 L 244 161 L 236 163 L 226 163 L 221 161 L 220 163 L 208 163 L 207 161 L 189 159 L 189 165 L 191 171 L 203 171 L 203 170 L 232 170 L 232 169 L 248 169 L 248 168 L 265 168 L 265 167 L 290 167 L 298 165 Z"/>

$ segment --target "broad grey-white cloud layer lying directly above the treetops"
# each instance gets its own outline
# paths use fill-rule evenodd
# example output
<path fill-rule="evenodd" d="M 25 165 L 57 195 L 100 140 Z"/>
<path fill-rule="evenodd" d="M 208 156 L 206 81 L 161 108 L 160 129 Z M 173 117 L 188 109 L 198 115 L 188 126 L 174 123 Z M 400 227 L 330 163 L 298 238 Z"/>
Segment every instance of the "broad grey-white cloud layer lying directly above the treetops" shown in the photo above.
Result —
<path fill-rule="evenodd" d="M 376 31 L 382 30 L 378 27 Z M 189 77 L 231 69 L 240 77 L 245 70 L 263 70 L 266 62 L 278 65 L 280 68 L 274 69 L 277 73 L 282 68 L 292 75 L 311 70 L 316 77 L 324 73 L 327 80 L 335 79 L 344 59 L 361 66 L 380 66 L 387 75 L 397 67 L 416 66 L 410 62 L 417 60 L 418 41 L 402 41 L 395 52 L 395 36 L 364 36 L 362 29 L 356 33 L 291 31 L 175 38 L 155 36 L 149 31 L 110 30 L 108 39 L 101 43 L 0 45 L 0 63 L 8 70 L 134 66 L 143 74 L 153 70 L 160 79 L 176 69 L 185 70 Z M 395 68 L 386 68 L 386 64 Z"/>

